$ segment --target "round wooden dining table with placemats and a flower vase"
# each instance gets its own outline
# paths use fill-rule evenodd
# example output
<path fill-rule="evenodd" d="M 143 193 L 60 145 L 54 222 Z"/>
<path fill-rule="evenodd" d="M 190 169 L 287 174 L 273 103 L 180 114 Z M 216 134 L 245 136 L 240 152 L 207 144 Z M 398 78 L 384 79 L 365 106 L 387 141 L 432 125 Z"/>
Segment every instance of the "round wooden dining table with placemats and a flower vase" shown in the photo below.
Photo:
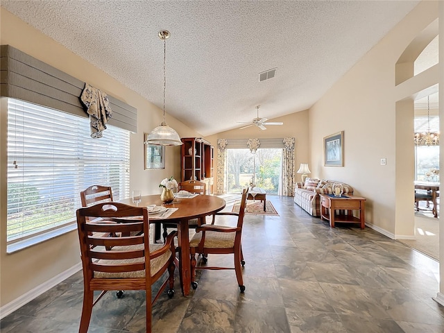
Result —
<path fill-rule="evenodd" d="M 136 205 L 132 198 L 119 200 L 120 203 Z M 205 219 L 225 208 L 226 202 L 218 196 L 199 194 L 194 198 L 175 198 L 172 203 L 164 204 L 160 195 L 142 196 L 142 201 L 137 203 L 139 207 L 158 205 L 167 208 L 178 208 L 173 214 L 166 217 L 150 219 L 150 223 L 168 223 L 178 225 L 178 248 L 179 248 L 179 276 L 180 287 L 184 296 L 189 295 L 191 286 L 191 260 L 189 257 L 189 228 L 188 221 L 191 219 Z M 148 213 L 149 217 L 149 213 Z M 156 228 L 159 228 L 158 225 Z"/>

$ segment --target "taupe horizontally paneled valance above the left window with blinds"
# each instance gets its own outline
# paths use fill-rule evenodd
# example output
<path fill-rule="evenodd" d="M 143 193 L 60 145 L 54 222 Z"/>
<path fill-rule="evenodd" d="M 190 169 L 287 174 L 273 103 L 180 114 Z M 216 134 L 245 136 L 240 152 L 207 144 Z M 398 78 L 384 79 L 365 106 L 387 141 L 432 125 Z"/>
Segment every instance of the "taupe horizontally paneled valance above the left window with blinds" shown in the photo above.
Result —
<path fill-rule="evenodd" d="M 80 117 L 88 117 L 80 103 L 85 82 L 10 45 L 0 46 L 0 96 L 20 99 Z M 137 109 L 109 96 L 110 125 L 137 132 Z"/>

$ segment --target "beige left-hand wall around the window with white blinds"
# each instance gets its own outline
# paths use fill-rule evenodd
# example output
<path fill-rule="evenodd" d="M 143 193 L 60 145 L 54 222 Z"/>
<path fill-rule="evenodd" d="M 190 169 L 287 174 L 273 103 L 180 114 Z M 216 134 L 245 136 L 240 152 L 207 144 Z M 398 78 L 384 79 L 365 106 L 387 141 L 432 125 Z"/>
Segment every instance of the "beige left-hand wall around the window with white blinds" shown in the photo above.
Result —
<path fill-rule="evenodd" d="M 35 31 L 3 8 L 0 10 L 1 44 L 10 44 L 137 108 L 137 134 L 130 135 L 130 188 L 142 189 L 143 194 L 160 194 L 158 185 L 162 178 L 173 175 L 180 179 L 180 147 L 166 148 L 166 169 L 144 170 L 144 133 L 160 125 L 161 110 L 49 37 Z M 69 232 L 17 253 L 6 254 L 7 158 L 4 101 L 1 105 L 0 119 L 0 306 L 3 307 L 56 275 L 69 270 L 80 262 L 80 257 L 76 232 Z M 200 136 L 168 115 L 167 123 L 176 129 L 181 137 Z"/>

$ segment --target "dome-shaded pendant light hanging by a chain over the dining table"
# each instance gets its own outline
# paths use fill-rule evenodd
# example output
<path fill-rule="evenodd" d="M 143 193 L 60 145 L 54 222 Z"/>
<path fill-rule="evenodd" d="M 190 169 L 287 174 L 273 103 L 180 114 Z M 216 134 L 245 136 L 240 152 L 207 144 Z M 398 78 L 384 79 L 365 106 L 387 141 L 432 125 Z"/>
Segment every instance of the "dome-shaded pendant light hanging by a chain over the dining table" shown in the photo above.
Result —
<path fill-rule="evenodd" d="M 169 31 L 162 30 L 159 31 L 159 38 L 164 41 L 164 120 L 160 124 L 154 128 L 151 133 L 148 134 L 148 138 L 144 144 L 155 144 L 159 146 L 180 146 L 182 141 L 180 141 L 180 137 L 176 130 L 169 127 L 167 122 L 165 121 L 165 88 L 167 86 L 166 76 L 165 76 L 165 59 L 167 54 L 167 46 L 166 40 L 170 37 Z"/>

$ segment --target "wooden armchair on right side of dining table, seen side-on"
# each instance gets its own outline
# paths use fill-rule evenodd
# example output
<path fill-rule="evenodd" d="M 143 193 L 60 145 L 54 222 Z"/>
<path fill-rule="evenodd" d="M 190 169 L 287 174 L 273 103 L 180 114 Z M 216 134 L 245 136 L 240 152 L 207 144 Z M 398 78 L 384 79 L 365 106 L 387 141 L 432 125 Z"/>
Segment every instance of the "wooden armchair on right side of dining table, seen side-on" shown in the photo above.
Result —
<path fill-rule="evenodd" d="M 242 253 L 241 237 L 242 226 L 244 224 L 245 207 L 248 196 L 248 188 L 242 191 L 241 206 L 239 212 L 219 212 L 216 216 L 237 216 L 237 225 L 230 227 L 226 225 L 203 224 L 196 228 L 196 234 L 189 242 L 189 252 L 191 255 L 191 286 L 196 289 L 196 269 L 234 269 L 236 272 L 237 284 L 241 293 L 245 291 L 244 279 L 242 278 L 242 268 L 245 265 Z M 234 268 L 215 266 L 196 266 L 196 253 L 211 254 L 233 254 Z M 206 262 L 205 260 L 203 261 Z"/>

